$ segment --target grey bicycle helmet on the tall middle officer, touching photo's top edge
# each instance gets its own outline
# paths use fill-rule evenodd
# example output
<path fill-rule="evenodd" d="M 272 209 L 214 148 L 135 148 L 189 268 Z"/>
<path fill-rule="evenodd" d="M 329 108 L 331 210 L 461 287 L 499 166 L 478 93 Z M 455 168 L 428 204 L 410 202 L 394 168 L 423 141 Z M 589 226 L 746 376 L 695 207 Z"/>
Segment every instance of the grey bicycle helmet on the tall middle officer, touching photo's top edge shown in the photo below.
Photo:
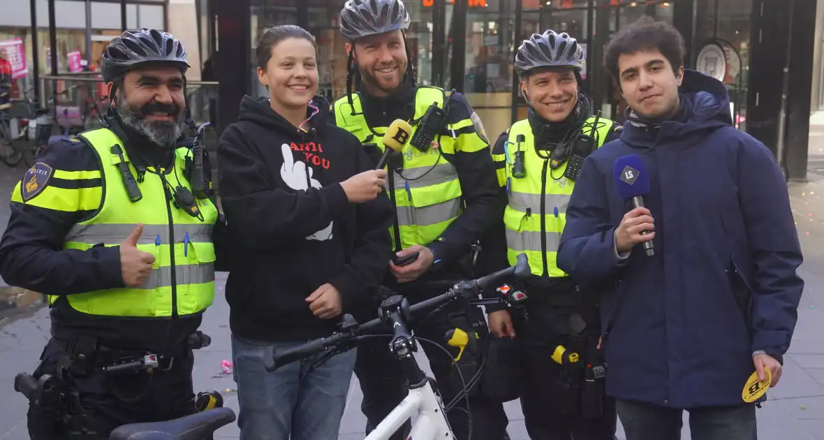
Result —
<path fill-rule="evenodd" d="M 349 40 L 409 26 L 410 15 L 400 0 L 348 0 L 340 11 L 340 33 Z"/>

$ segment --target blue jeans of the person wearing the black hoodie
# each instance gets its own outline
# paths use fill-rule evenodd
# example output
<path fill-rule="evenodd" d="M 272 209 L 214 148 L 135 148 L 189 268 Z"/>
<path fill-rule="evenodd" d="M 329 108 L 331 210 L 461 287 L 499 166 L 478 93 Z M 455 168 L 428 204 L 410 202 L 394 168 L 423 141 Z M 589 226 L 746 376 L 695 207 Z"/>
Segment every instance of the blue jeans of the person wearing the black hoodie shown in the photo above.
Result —
<path fill-rule="evenodd" d="M 313 372 L 294 362 L 266 372 L 272 350 L 300 342 L 266 343 L 232 335 L 232 362 L 240 412 L 241 440 L 331 440 L 338 438 L 355 349 L 339 353 Z"/>

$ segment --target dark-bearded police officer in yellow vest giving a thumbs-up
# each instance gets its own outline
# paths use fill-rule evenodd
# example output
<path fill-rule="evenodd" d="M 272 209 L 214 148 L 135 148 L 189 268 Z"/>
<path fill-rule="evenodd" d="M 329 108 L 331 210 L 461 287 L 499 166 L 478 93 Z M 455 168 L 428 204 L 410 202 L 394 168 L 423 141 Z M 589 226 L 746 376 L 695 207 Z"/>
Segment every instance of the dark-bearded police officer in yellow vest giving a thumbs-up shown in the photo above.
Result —
<path fill-rule="evenodd" d="M 30 403 L 32 438 L 108 438 L 195 412 L 218 208 L 202 148 L 180 147 L 187 68 L 166 32 L 116 37 L 101 68 L 104 128 L 50 143 L 12 193 L 0 274 L 48 295 L 52 323 L 32 375 L 50 385 Z"/>

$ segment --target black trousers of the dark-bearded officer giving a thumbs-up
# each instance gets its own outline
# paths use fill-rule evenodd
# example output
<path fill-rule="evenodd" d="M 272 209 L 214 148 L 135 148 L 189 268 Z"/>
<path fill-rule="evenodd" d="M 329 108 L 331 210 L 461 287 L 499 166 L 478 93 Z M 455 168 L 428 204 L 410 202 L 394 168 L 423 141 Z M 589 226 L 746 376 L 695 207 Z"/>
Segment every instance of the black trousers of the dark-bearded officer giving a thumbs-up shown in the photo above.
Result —
<path fill-rule="evenodd" d="M 49 340 L 33 376 L 56 375 L 62 356 L 59 344 Z M 151 374 L 130 372 L 115 376 L 99 369 L 89 374 L 69 371 L 64 375 L 68 377 L 63 384 L 68 390 L 76 390 L 77 398 L 62 406 L 72 421 L 57 424 L 59 433 L 54 438 L 103 440 L 120 425 L 160 422 L 194 414 L 193 365 L 194 355 L 187 349 L 171 358 L 171 363 L 162 363 L 161 367 L 168 369 L 158 368 Z M 28 424 L 32 436 L 38 424 L 52 423 L 41 420 L 38 414 L 30 404 Z M 87 434 L 69 435 L 79 427 L 86 429 Z"/>

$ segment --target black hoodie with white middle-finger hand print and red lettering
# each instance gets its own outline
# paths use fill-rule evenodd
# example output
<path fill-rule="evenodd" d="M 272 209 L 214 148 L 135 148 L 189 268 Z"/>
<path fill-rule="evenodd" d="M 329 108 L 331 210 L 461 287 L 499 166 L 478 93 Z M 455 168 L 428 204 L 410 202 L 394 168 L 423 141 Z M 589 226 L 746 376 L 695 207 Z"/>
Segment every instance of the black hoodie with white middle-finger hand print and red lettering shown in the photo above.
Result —
<path fill-rule="evenodd" d="M 358 138 L 326 124 L 329 102 L 307 109 L 309 133 L 245 96 L 218 145 L 222 207 L 232 256 L 226 284 L 232 333 L 297 341 L 329 335 L 339 317 L 313 316 L 305 301 L 331 283 L 344 312 L 361 309 L 391 257 L 395 212 L 385 193 L 349 204 L 339 182 L 372 169 Z M 285 160 L 284 160 L 285 159 Z"/>

